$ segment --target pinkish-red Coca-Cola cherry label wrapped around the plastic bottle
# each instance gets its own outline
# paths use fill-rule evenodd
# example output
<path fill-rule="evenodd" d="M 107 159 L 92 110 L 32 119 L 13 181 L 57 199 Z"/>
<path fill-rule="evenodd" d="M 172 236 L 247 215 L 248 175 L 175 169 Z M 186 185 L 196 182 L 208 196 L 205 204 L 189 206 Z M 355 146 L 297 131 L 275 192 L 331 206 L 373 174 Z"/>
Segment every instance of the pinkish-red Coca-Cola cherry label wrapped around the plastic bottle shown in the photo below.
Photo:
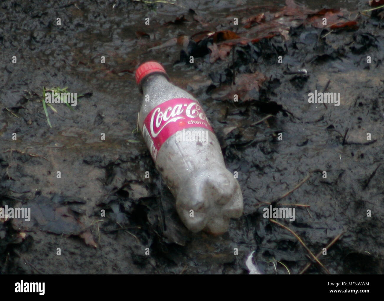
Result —
<path fill-rule="evenodd" d="M 153 160 L 169 137 L 186 128 L 205 128 L 212 133 L 203 108 L 189 98 L 174 98 L 154 108 L 145 118 L 142 135 Z"/>

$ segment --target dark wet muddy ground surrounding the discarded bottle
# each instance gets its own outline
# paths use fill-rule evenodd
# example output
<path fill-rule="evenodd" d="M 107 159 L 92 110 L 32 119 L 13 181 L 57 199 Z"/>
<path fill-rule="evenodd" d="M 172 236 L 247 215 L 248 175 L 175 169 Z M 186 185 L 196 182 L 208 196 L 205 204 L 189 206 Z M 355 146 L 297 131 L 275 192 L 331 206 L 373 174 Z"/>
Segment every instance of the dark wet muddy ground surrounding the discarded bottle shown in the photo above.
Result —
<path fill-rule="evenodd" d="M 263 218 L 268 202 L 295 208 L 295 221 L 276 220 L 315 255 L 343 234 L 319 257 L 329 273 L 383 273 L 382 10 L 357 14 L 371 8 L 366 1 L 306 4 L 348 9 L 354 15 L 345 18 L 357 26 L 284 20 L 288 30 L 235 43 L 227 55 L 207 50 L 208 39 L 208 46 L 190 44 L 183 35 L 251 37 L 259 25 L 244 28 L 242 20 L 285 3 L 3 1 L 0 206 L 30 207 L 31 221 L 0 220 L 0 273 L 244 274 L 253 251 L 262 273 L 300 273 L 314 260 L 291 232 Z M 142 95 L 132 72 L 149 59 L 201 101 L 227 168 L 238 171 L 244 214 L 222 236 L 185 229 L 137 133 Z M 239 87 L 242 74 L 256 72 L 265 77 L 260 87 Z M 233 86 L 238 102 L 228 96 Z M 48 107 L 50 127 L 43 87 L 84 96 L 73 110 Z M 314 90 L 340 92 L 340 105 L 309 104 Z M 305 273 L 327 271 L 313 263 Z"/>

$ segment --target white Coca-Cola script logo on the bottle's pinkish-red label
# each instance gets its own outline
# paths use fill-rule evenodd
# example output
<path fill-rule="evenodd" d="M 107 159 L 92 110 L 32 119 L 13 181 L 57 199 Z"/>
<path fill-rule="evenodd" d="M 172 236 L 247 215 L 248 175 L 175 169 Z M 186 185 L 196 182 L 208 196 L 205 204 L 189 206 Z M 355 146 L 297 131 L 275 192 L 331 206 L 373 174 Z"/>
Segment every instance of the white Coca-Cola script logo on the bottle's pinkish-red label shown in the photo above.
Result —
<path fill-rule="evenodd" d="M 156 107 L 151 115 L 150 130 L 152 137 L 157 137 L 163 128 L 165 128 L 170 122 L 186 119 L 180 115 L 185 115 L 188 118 L 199 118 L 209 124 L 202 107 L 200 107 L 200 105 L 196 102 L 191 102 L 189 104 L 176 104 L 173 107 L 167 107 L 163 111 L 161 110 L 161 107 Z"/>

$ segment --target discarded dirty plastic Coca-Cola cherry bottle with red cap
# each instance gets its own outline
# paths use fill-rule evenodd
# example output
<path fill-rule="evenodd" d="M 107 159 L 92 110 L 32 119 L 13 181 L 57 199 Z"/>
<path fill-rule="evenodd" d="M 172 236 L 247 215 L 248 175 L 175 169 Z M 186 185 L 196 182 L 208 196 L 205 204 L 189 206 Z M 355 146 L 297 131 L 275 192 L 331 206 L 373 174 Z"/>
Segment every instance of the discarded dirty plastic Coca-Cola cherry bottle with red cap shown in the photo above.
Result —
<path fill-rule="evenodd" d="M 201 105 L 157 62 L 141 64 L 135 75 L 144 95 L 139 127 L 180 219 L 192 232 L 223 234 L 242 215 L 243 196 Z"/>

